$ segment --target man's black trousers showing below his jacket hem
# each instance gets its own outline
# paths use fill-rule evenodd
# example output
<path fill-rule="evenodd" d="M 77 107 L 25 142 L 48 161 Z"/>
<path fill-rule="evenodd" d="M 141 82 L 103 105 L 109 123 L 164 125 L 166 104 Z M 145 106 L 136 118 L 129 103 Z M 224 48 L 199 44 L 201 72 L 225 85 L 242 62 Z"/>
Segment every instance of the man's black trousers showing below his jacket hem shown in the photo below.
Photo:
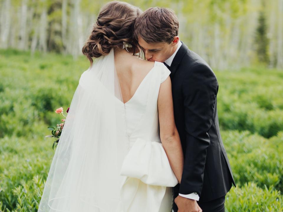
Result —
<path fill-rule="evenodd" d="M 203 212 L 225 212 L 224 203 L 225 196 L 208 202 L 198 202 L 198 205 Z M 173 210 L 174 212 L 178 211 L 176 204 L 174 204 Z"/>

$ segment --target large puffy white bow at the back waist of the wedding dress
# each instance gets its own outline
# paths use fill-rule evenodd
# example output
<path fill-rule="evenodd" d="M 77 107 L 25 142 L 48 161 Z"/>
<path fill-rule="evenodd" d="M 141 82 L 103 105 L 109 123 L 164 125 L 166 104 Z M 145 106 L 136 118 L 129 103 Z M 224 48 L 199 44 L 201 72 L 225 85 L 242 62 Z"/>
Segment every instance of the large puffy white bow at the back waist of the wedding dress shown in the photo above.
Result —
<path fill-rule="evenodd" d="M 138 178 L 148 185 L 174 187 L 178 180 L 162 143 L 137 138 L 126 155 L 120 175 Z"/>

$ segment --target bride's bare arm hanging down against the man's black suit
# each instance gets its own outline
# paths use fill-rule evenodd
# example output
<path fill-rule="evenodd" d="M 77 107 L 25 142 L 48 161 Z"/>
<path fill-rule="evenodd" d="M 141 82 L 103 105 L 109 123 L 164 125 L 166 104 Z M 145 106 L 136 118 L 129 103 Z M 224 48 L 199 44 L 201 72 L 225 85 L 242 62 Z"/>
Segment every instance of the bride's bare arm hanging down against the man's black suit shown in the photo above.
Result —
<path fill-rule="evenodd" d="M 184 155 L 174 120 L 170 77 L 168 77 L 160 85 L 158 95 L 158 114 L 160 139 L 172 170 L 180 183 L 183 172 Z"/>

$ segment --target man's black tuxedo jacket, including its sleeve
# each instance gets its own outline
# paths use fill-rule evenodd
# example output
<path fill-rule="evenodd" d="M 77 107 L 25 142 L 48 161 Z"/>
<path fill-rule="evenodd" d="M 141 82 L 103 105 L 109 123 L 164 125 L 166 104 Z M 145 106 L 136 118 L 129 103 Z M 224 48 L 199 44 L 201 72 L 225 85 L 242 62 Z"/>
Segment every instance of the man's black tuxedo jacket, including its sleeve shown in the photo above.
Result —
<path fill-rule="evenodd" d="M 184 43 L 169 69 L 175 123 L 185 157 L 175 197 L 197 192 L 199 201 L 206 202 L 224 196 L 235 182 L 219 132 L 215 74 Z"/>

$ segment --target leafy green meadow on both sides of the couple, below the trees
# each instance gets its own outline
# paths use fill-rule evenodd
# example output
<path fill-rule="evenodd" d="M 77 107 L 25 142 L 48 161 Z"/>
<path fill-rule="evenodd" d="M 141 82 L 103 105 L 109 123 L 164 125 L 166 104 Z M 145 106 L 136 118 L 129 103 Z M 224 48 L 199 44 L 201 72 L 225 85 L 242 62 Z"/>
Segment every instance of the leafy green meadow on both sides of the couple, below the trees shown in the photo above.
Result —
<path fill-rule="evenodd" d="M 0 211 L 37 211 L 54 151 L 47 126 L 68 108 L 85 57 L 0 50 Z M 226 211 L 283 211 L 283 71 L 215 71 L 221 135 L 237 188 Z"/>

